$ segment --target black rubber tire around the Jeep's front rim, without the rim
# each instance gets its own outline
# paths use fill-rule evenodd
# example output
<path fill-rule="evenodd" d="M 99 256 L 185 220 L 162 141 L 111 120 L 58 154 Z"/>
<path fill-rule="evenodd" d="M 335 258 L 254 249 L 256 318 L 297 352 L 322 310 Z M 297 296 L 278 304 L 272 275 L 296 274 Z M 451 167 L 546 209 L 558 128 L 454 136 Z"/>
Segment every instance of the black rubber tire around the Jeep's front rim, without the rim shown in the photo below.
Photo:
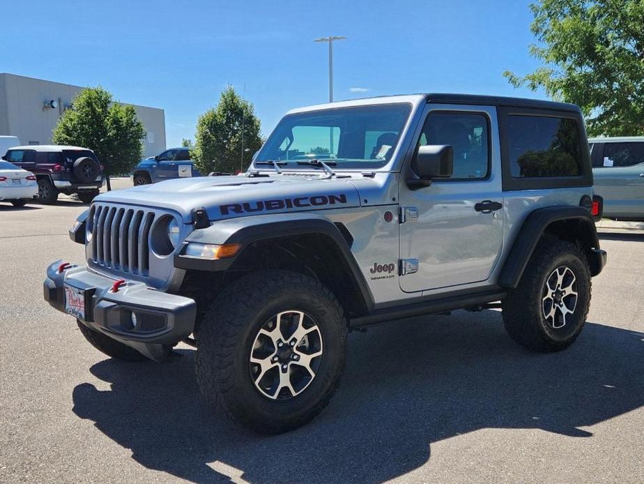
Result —
<path fill-rule="evenodd" d="M 256 333 L 282 311 L 312 315 L 324 340 L 319 370 L 302 393 L 270 400 L 254 385 L 249 355 Z M 290 271 L 259 271 L 236 280 L 201 320 L 197 381 L 201 392 L 232 421 L 264 434 L 294 430 L 328 404 L 346 359 L 344 310 L 319 281 Z"/>

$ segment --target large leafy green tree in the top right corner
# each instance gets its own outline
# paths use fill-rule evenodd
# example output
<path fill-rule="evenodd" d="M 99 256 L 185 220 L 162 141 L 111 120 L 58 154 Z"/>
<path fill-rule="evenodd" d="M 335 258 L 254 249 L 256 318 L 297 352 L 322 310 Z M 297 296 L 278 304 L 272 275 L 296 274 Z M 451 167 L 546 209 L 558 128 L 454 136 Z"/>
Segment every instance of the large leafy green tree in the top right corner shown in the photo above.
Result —
<path fill-rule="evenodd" d="M 515 87 L 581 107 L 591 135 L 644 135 L 644 0 L 538 0 L 530 5 L 543 66 Z"/>

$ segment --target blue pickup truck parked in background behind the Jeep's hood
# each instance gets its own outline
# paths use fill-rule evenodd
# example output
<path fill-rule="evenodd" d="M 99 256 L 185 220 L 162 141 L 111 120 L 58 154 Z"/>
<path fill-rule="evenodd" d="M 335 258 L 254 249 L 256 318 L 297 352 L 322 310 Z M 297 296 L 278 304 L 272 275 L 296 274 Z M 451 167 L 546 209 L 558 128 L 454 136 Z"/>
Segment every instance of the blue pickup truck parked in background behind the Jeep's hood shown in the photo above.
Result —
<path fill-rule="evenodd" d="M 147 185 L 190 176 L 201 176 L 190 160 L 190 149 L 171 148 L 153 158 L 141 160 L 135 167 L 132 181 L 135 185 Z"/>

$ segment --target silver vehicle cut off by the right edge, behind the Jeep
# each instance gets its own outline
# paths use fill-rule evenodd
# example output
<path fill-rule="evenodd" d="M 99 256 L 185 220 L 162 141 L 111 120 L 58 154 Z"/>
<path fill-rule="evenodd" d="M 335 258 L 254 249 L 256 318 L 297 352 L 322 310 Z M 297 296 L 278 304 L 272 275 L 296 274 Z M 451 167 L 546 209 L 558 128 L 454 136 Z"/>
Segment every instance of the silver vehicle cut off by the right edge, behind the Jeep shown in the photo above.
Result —
<path fill-rule="evenodd" d="M 590 138 L 588 144 L 604 217 L 644 220 L 644 136 Z"/>

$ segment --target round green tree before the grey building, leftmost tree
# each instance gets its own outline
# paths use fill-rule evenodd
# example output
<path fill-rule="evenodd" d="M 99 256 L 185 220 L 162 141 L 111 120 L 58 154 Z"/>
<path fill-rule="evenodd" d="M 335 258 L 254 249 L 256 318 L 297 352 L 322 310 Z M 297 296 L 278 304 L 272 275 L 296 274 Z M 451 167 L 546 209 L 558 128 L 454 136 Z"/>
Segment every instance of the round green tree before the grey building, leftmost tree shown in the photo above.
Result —
<path fill-rule="evenodd" d="M 52 133 L 56 144 L 72 144 L 96 153 L 109 176 L 129 173 L 141 159 L 145 134 L 134 107 L 114 103 L 102 87 L 83 89 L 59 119 Z"/>

